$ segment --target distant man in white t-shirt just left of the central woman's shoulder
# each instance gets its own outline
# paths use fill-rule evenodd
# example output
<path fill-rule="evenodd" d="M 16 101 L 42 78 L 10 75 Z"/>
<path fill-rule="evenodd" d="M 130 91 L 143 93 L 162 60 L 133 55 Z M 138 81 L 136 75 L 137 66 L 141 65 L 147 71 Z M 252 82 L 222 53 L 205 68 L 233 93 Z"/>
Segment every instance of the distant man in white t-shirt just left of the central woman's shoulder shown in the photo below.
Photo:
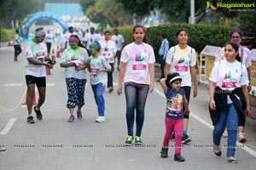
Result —
<path fill-rule="evenodd" d="M 115 44 L 116 44 L 117 52 L 115 54 L 115 58 L 118 59 L 117 70 L 119 71 L 121 51 L 122 51 L 122 48 L 124 47 L 125 39 L 124 39 L 124 37 L 121 34 L 119 34 L 119 30 L 117 28 L 115 28 L 113 30 L 113 32 L 114 32 L 114 35 L 111 37 L 111 40 L 113 42 L 115 42 Z"/>

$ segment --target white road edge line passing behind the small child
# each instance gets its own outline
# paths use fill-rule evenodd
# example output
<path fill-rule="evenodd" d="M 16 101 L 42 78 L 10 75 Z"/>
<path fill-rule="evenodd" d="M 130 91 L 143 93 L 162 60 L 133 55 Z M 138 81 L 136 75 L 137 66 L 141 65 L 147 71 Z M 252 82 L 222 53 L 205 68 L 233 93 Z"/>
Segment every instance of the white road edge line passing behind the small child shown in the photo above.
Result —
<path fill-rule="evenodd" d="M 166 96 L 164 95 L 163 92 L 160 92 L 158 89 L 154 88 L 154 92 L 159 94 L 161 97 L 166 99 Z M 189 116 L 192 116 L 195 120 L 197 120 L 198 122 L 201 122 L 202 124 L 204 124 L 206 127 L 209 127 L 210 129 L 213 130 L 213 126 L 211 123 L 206 122 L 204 119 L 202 119 L 200 116 L 195 115 L 194 113 L 192 113 L 190 111 Z M 247 151 L 249 154 L 251 154 L 252 156 L 256 157 L 256 151 L 250 149 L 249 147 L 247 147 L 245 144 L 241 144 L 239 142 L 236 142 L 236 145 L 240 145 L 242 150 Z"/>

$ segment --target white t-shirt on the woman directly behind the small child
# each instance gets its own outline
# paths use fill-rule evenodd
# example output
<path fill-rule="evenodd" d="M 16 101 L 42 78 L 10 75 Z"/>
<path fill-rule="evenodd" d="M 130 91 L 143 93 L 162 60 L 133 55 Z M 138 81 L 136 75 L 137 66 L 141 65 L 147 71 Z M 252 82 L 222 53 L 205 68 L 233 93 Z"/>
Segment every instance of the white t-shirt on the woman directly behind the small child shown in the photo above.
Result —
<path fill-rule="evenodd" d="M 178 72 L 180 74 L 183 79 L 181 83 L 182 87 L 191 87 L 190 66 L 195 66 L 195 62 L 195 49 L 189 46 L 182 49 L 176 45 L 170 48 L 166 55 L 166 63 L 171 65 L 170 73 Z"/>

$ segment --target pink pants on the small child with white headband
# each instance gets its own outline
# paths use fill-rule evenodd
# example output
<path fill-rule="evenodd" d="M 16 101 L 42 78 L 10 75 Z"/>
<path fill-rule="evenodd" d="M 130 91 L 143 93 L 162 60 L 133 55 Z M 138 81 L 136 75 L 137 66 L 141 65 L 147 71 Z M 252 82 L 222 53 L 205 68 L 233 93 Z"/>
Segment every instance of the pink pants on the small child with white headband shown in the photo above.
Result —
<path fill-rule="evenodd" d="M 172 131 L 175 133 L 175 154 L 181 154 L 182 133 L 183 133 L 183 119 L 165 119 L 166 135 L 163 141 L 163 147 L 167 148 L 172 136 Z"/>

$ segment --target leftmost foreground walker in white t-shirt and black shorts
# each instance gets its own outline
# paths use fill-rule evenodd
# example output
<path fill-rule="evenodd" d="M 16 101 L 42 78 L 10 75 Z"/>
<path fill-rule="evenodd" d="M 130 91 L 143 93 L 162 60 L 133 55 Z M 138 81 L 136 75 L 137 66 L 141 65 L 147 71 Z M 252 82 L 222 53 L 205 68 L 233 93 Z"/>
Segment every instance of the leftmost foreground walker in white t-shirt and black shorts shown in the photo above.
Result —
<path fill-rule="evenodd" d="M 53 62 L 46 55 L 44 47 L 45 31 L 43 27 L 39 27 L 35 31 L 32 42 L 28 42 L 25 48 L 26 66 L 26 105 L 27 105 L 27 123 L 35 123 L 32 116 L 32 102 L 35 96 L 35 84 L 38 87 L 38 105 L 34 106 L 34 111 L 37 114 L 38 120 L 42 120 L 43 116 L 40 107 L 44 104 L 46 91 L 46 71 L 45 67 L 53 68 Z M 45 61 L 49 61 L 45 63 Z M 50 62 L 51 61 L 51 62 Z"/>

